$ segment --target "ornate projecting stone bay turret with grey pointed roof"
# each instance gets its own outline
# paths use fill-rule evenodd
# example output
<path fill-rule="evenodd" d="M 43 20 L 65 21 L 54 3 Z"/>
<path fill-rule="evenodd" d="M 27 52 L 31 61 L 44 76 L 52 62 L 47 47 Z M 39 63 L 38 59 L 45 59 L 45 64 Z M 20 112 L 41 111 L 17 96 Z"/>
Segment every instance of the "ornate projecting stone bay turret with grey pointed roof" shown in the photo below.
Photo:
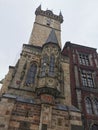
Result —
<path fill-rule="evenodd" d="M 42 46 L 39 83 L 36 89 L 38 95 L 44 94 L 57 98 L 61 94 L 61 49 L 54 29 L 51 30 L 45 44 Z"/>

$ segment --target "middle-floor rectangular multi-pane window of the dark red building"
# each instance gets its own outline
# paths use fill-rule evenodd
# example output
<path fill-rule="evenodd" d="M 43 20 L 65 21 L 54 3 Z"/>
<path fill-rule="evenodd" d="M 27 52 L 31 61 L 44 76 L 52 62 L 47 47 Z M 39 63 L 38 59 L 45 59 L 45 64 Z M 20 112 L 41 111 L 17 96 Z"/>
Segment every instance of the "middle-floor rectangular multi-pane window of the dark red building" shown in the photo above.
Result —
<path fill-rule="evenodd" d="M 82 85 L 83 86 L 91 87 L 91 88 L 94 87 L 92 73 L 86 72 L 86 71 L 82 71 L 81 72 L 81 79 L 82 79 Z"/>

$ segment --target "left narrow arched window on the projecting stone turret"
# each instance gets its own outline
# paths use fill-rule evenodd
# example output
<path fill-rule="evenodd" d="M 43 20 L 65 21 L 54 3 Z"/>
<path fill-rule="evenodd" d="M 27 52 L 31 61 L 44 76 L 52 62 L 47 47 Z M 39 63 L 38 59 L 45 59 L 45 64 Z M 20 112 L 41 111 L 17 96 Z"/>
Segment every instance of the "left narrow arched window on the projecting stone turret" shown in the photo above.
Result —
<path fill-rule="evenodd" d="M 42 63 L 41 63 L 41 75 L 42 76 L 45 76 L 47 62 L 48 62 L 48 56 L 45 55 L 43 57 Z"/>

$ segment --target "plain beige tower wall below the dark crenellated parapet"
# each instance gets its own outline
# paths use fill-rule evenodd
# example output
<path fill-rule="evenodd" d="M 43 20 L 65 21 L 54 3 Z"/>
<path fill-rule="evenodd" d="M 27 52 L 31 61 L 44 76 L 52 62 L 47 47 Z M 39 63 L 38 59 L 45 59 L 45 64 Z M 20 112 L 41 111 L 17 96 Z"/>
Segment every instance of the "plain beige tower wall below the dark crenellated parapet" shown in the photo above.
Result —
<path fill-rule="evenodd" d="M 54 19 L 50 19 L 50 25 L 47 25 L 47 20 L 49 18 L 45 16 L 36 16 L 35 23 L 33 25 L 33 30 L 30 36 L 29 44 L 35 45 L 35 46 L 42 46 L 52 28 L 55 29 L 55 33 L 57 36 L 57 40 L 59 45 L 61 46 L 61 25 L 59 21 L 56 21 Z"/>

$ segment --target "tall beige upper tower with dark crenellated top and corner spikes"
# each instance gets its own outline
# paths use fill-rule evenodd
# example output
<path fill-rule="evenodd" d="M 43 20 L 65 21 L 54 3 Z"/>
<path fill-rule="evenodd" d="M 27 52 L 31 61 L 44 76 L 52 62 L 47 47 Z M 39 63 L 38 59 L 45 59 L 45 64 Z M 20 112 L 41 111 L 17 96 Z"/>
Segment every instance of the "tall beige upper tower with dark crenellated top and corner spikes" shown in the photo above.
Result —
<path fill-rule="evenodd" d="M 42 46 L 46 42 L 51 29 L 55 30 L 57 40 L 61 46 L 61 23 L 63 16 L 61 12 L 55 15 L 51 10 L 41 10 L 41 5 L 35 11 L 36 18 L 33 30 L 29 39 L 29 44 Z"/>

